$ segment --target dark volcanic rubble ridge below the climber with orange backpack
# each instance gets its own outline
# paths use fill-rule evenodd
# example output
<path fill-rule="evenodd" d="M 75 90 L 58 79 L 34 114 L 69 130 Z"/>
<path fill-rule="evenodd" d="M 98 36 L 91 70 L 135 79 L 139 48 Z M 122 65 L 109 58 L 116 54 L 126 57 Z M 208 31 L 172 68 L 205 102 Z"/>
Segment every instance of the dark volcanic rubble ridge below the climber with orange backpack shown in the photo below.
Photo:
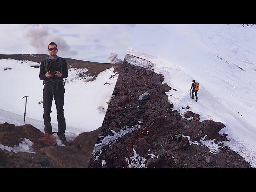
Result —
<path fill-rule="evenodd" d="M 172 110 L 163 80 L 124 60 L 89 167 L 250 168 L 225 146 L 222 122 Z"/>

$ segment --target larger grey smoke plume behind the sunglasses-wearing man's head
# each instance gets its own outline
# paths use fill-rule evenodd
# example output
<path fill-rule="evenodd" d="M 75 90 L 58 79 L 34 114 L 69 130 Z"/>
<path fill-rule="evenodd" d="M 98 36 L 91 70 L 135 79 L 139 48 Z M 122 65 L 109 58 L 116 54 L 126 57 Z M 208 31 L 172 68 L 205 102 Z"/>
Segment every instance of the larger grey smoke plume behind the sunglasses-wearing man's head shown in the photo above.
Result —
<path fill-rule="evenodd" d="M 59 34 L 50 34 L 42 25 L 27 26 L 23 36 L 28 39 L 31 46 L 36 48 L 36 53 L 48 54 L 48 44 L 55 42 L 58 46 L 58 53 L 61 53 L 63 56 L 78 54 L 77 51 L 70 50 L 70 46 L 62 36 Z"/>

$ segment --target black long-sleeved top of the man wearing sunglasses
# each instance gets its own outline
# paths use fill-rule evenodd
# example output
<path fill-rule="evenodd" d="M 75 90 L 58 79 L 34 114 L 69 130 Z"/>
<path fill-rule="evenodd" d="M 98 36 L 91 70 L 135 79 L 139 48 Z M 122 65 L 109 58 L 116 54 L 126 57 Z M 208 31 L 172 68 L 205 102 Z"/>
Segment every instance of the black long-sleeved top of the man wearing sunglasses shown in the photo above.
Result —
<path fill-rule="evenodd" d="M 63 58 L 62 58 L 63 59 Z M 62 76 L 61 77 L 56 77 L 56 76 L 52 76 L 50 78 L 47 78 L 45 76 L 46 72 L 45 72 L 45 67 L 44 64 L 46 63 L 46 59 L 43 60 L 41 62 L 40 65 L 40 72 L 39 72 L 39 78 L 40 80 L 49 80 L 49 79 L 63 79 L 63 78 L 67 78 L 68 77 L 68 66 L 67 66 L 67 62 L 65 59 L 63 59 L 63 67 L 62 67 Z M 61 72 L 61 66 L 58 63 L 58 60 L 50 60 L 48 61 L 48 66 L 47 66 L 47 71 L 59 71 Z"/>

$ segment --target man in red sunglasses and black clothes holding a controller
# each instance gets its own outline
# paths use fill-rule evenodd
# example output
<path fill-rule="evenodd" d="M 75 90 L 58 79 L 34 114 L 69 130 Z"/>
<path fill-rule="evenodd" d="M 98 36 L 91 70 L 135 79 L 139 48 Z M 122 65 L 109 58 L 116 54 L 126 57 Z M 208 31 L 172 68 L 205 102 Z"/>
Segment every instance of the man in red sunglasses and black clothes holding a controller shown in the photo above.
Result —
<path fill-rule="evenodd" d="M 43 90 L 43 107 L 44 107 L 44 132 L 52 134 L 51 116 L 52 112 L 52 100 L 54 97 L 57 120 L 58 120 L 58 132 L 57 135 L 60 140 L 66 141 L 66 119 L 64 117 L 64 81 L 63 78 L 68 77 L 68 67 L 65 59 L 57 56 L 58 48 L 57 44 L 51 42 L 48 45 L 49 56 L 41 62 L 39 78 L 44 80 Z"/>

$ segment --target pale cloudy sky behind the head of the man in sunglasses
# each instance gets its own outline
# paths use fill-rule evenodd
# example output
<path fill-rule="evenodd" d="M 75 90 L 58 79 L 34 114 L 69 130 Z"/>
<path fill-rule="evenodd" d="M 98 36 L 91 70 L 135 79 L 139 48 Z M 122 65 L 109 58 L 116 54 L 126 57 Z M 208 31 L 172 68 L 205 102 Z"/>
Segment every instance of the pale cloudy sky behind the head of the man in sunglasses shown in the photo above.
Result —
<path fill-rule="evenodd" d="M 0 24 L 0 54 L 48 54 L 56 42 L 58 55 L 93 62 L 109 62 L 111 52 L 124 56 L 133 24 Z"/>

